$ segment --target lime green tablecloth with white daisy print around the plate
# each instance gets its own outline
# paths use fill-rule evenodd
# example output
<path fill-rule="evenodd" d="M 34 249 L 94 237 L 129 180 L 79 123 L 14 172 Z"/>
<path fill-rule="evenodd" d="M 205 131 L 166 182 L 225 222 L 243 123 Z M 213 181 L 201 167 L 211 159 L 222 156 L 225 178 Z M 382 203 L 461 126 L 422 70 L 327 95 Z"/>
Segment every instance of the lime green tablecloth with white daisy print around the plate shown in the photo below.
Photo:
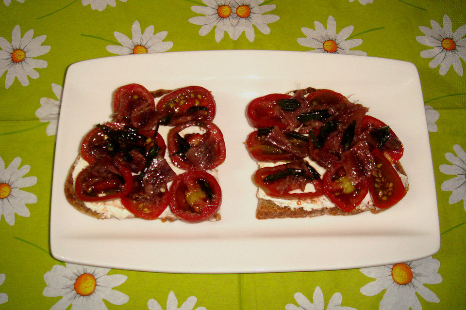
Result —
<path fill-rule="evenodd" d="M 3 0 L 0 309 L 464 309 L 465 12 L 463 0 Z M 67 66 L 213 49 L 413 62 L 430 131 L 440 251 L 380 267 L 265 274 L 165 274 L 54 260 L 50 189 Z"/>

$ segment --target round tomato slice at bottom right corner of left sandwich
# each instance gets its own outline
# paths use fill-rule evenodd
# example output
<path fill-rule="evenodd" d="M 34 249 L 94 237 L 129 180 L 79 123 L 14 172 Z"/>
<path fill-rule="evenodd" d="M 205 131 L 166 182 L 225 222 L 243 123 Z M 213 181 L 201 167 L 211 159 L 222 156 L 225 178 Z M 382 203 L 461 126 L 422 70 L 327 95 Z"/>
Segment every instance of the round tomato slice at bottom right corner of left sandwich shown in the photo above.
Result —
<path fill-rule="evenodd" d="M 221 201 L 216 178 L 204 170 L 184 172 L 170 186 L 170 210 L 185 222 L 197 223 L 213 217 Z"/>

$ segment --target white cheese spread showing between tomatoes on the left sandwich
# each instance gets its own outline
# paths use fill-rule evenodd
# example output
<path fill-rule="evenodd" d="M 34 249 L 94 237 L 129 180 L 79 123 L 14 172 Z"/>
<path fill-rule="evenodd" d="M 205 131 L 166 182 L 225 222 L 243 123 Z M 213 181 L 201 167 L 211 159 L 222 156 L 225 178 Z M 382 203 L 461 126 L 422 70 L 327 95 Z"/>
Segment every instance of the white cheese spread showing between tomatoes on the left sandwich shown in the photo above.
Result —
<path fill-rule="evenodd" d="M 160 135 L 164 138 L 164 141 L 166 141 L 167 134 L 169 129 L 171 127 L 160 127 L 159 128 L 159 133 Z M 183 129 L 183 136 L 189 133 L 200 133 L 203 134 L 205 133 L 205 129 L 198 127 L 198 126 L 190 126 L 188 128 Z M 180 132 L 181 133 L 181 132 Z M 165 153 L 165 159 L 168 165 L 171 167 L 171 169 L 176 173 L 176 174 L 182 174 L 185 172 L 184 170 L 176 167 L 173 165 L 171 162 L 170 157 L 168 156 L 168 152 Z M 78 163 L 76 164 L 72 176 L 73 176 L 73 184 L 76 182 L 76 178 L 78 174 L 87 166 L 89 166 L 89 163 L 85 161 L 81 156 L 79 157 Z M 218 180 L 218 174 L 216 169 L 212 170 L 207 170 L 208 173 L 212 174 L 217 180 Z M 170 188 L 172 182 L 167 183 L 167 187 Z M 131 218 L 134 217 L 134 215 L 129 212 L 121 203 L 120 199 L 113 199 L 113 200 L 107 200 L 107 201 L 102 201 L 102 202 L 83 202 L 86 207 L 91 209 L 92 211 L 100 213 L 103 217 L 105 218 L 111 218 L 111 217 L 116 217 L 118 219 L 124 219 L 124 218 Z M 170 206 L 166 207 L 164 212 L 159 216 L 159 218 L 164 218 L 164 219 L 175 219 L 175 216 L 173 213 L 170 211 Z"/>

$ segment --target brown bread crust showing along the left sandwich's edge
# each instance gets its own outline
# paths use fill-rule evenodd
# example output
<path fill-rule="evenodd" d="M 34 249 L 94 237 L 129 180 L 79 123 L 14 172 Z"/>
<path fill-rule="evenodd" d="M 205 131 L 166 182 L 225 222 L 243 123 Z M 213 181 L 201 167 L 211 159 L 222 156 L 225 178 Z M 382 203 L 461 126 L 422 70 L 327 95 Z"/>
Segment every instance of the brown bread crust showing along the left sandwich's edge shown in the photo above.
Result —
<path fill-rule="evenodd" d="M 86 214 L 91 217 L 95 217 L 98 219 L 106 219 L 106 218 L 111 218 L 111 217 L 105 217 L 103 214 L 96 212 L 90 208 L 88 208 L 83 201 L 78 199 L 76 196 L 76 192 L 74 190 L 74 180 L 73 180 L 73 171 L 76 168 L 76 165 L 78 164 L 80 156 L 76 157 L 75 161 L 71 165 L 71 168 L 68 171 L 67 178 L 65 180 L 65 196 L 67 198 L 67 201 L 69 204 L 71 204 L 76 210 L 79 212 Z M 134 218 L 135 216 L 131 215 L 126 218 Z M 178 218 L 175 216 L 166 216 L 166 217 L 159 217 L 158 219 L 164 221 L 164 222 L 173 222 L 177 220 Z M 221 219 L 220 213 L 217 212 L 213 217 L 209 219 L 209 221 L 218 221 Z"/>

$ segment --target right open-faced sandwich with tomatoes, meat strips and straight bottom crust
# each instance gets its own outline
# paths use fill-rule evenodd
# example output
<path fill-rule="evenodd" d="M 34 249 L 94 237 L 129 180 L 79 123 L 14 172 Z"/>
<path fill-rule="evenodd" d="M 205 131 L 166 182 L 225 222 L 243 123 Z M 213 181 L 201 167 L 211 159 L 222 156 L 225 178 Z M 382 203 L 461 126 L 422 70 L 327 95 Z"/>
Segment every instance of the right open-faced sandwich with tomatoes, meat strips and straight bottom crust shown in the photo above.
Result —
<path fill-rule="evenodd" d="M 403 145 L 367 111 L 311 87 L 252 100 L 246 144 L 258 163 L 256 217 L 378 213 L 399 202 L 408 190 Z"/>

